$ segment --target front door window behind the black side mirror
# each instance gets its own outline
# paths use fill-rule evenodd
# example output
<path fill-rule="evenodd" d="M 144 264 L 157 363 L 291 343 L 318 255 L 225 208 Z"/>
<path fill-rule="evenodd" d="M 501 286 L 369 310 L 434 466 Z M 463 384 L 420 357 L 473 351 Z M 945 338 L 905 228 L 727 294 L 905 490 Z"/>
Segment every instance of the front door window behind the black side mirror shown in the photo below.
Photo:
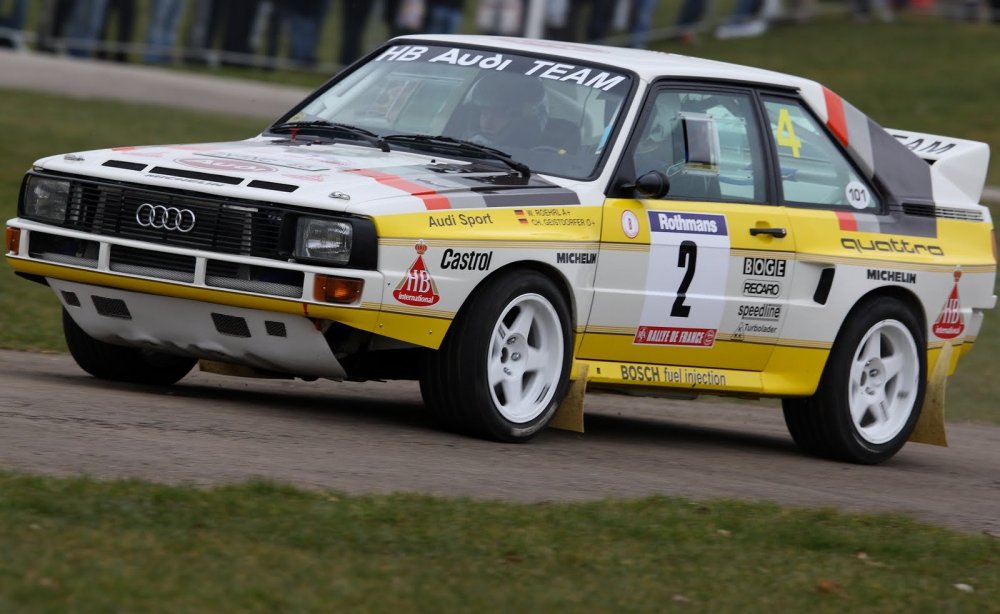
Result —
<path fill-rule="evenodd" d="M 662 172 L 667 198 L 764 202 L 763 148 L 749 95 L 671 88 L 650 105 L 632 154 L 637 177 Z"/>

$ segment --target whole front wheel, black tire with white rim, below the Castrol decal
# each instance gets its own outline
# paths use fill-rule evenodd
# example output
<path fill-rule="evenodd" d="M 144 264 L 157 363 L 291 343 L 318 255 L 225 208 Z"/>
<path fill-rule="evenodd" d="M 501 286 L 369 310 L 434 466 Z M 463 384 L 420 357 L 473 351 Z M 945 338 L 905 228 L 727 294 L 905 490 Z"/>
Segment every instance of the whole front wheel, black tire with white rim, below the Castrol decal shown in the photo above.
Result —
<path fill-rule="evenodd" d="M 449 426 L 497 441 L 534 437 L 569 385 L 569 308 L 537 271 L 503 273 L 478 290 L 421 378 Z"/>

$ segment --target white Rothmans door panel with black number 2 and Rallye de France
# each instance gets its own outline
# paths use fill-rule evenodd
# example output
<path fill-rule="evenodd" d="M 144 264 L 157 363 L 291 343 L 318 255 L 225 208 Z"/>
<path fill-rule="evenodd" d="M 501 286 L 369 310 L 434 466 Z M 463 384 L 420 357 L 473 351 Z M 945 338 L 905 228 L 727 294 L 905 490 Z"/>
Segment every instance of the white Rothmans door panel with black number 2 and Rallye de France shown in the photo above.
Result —
<path fill-rule="evenodd" d="M 724 215 L 650 211 L 646 301 L 632 342 L 712 347 L 725 307 Z"/>

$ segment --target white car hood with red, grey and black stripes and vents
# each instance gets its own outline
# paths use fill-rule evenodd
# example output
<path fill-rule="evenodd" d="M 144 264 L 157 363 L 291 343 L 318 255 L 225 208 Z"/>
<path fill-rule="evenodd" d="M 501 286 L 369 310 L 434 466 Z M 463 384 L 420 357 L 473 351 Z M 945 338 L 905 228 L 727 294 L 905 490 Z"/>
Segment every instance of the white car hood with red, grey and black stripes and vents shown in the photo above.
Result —
<path fill-rule="evenodd" d="M 579 202 L 573 190 L 538 175 L 523 177 L 500 162 L 264 137 L 115 147 L 53 156 L 35 166 L 109 181 L 359 215 Z"/>

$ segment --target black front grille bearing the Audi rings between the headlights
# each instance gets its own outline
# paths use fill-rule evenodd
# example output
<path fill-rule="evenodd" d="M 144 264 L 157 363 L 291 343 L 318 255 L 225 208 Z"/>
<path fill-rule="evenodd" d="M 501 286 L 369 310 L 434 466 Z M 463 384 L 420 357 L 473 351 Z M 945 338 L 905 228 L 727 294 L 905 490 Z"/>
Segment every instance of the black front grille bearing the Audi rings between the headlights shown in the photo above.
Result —
<path fill-rule="evenodd" d="M 146 204 L 189 212 L 185 213 L 184 226 L 191 225 L 187 220 L 193 216 L 193 228 L 189 232 L 168 228 L 169 224 L 156 228 L 148 218 L 137 219 L 139 208 Z M 286 214 L 267 204 L 73 181 L 66 226 L 161 245 L 281 259 L 279 240 Z M 155 225 L 162 224 L 157 221 Z"/>

